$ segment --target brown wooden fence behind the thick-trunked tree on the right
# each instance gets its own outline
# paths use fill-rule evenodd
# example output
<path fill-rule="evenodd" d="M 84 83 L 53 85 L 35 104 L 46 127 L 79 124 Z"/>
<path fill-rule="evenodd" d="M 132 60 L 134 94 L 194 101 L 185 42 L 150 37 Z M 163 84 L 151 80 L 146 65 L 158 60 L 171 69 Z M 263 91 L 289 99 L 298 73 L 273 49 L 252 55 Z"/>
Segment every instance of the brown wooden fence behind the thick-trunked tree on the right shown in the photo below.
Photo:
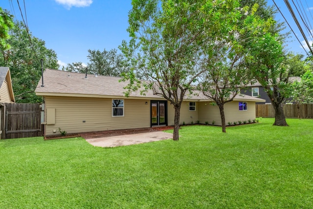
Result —
<path fill-rule="evenodd" d="M 283 109 L 286 117 L 298 117 L 296 104 L 285 104 Z M 275 111 L 271 104 L 255 105 L 255 112 L 257 117 L 275 117 Z M 301 104 L 300 116 L 301 118 L 313 118 L 313 104 Z"/>

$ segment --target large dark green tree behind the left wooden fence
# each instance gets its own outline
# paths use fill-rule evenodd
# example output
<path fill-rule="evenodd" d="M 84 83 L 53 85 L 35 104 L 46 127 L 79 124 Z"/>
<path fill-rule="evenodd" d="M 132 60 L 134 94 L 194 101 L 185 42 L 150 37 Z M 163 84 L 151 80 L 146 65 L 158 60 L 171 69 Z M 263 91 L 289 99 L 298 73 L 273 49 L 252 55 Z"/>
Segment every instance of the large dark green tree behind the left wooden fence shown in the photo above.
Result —
<path fill-rule="evenodd" d="M 1 49 L 0 65 L 10 67 L 12 86 L 18 103 L 41 102 L 35 88 L 41 77 L 41 59 L 45 68 L 59 68 L 57 55 L 45 47 L 45 42 L 28 33 L 22 22 L 14 23 L 6 43 L 10 49 Z M 29 38 L 30 37 L 30 38 Z M 30 42 L 31 41 L 31 42 Z"/>

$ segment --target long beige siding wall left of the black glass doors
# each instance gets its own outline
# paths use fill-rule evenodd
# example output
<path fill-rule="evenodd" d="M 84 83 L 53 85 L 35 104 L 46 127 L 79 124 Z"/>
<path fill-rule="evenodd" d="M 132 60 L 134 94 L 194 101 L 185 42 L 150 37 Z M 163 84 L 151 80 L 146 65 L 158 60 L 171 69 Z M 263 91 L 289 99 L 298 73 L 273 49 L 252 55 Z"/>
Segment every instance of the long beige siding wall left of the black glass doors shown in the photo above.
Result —
<path fill-rule="evenodd" d="M 46 136 L 60 134 L 59 128 L 82 133 L 150 127 L 149 100 L 124 99 L 124 116 L 118 117 L 112 116 L 109 98 L 46 96 L 45 108 L 55 108 L 55 124 L 46 125 Z"/>

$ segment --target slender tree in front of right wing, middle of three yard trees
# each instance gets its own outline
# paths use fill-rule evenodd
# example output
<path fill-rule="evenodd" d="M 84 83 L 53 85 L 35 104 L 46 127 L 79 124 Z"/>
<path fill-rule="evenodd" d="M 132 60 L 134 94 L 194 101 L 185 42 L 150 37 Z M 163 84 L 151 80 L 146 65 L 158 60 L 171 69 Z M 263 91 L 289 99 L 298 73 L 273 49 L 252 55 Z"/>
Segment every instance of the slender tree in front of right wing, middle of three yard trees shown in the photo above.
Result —
<path fill-rule="evenodd" d="M 248 6 L 240 8 L 239 3 L 229 7 L 228 13 L 233 20 L 225 27 L 227 32 L 218 39 L 203 41 L 203 65 L 207 71 L 203 74 L 203 81 L 199 85 L 205 96 L 215 101 L 220 109 L 222 131 L 226 132 L 224 104 L 233 101 L 253 79 L 248 70 L 247 62 L 251 62 L 249 49 L 244 44 L 254 39 L 254 34 L 264 33 L 270 29 L 271 19 L 264 21 L 255 15 L 258 5 L 250 9 Z M 251 24 L 253 23 L 253 24 Z M 208 50 L 207 46 L 213 50 Z M 213 58 L 213 59 L 212 59 Z"/>

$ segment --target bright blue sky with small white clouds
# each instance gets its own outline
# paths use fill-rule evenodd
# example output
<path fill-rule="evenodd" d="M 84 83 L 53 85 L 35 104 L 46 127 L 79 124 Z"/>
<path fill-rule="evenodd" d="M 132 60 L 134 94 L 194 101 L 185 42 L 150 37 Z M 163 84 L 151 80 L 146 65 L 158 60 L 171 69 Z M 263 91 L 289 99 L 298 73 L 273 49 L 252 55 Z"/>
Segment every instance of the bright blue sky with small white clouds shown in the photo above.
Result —
<path fill-rule="evenodd" d="M 313 23 L 310 19 L 310 15 L 313 14 L 313 1 L 299 1 L 303 3 L 309 21 Z M 117 49 L 122 40 L 129 40 L 126 29 L 128 12 L 132 7 L 131 0 L 19 0 L 19 2 L 24 18 L 23 2 L 25 2 L 29 30 L 33 36 L 44 40 L 47 48 L 57 53 L 61 65 L 72 62 L 87 64 L 88 49 L 100 51 L 104 48 Z M 275 2 L 291 23 L 300 41 L 303 41 L 284 0 Z M 268 0 L 268 4 L 273 4 L 272 0 Z M 9 10 L 17 20 L 22 21 L 17 0 L 1 0 L 0 6 Z M 279 13 L 276 19 L 283 21 Z M 287 30 L 290 30 L 289 27 Z M 291 36 L 290 41 L 294 41 L 288 43 L 288 49 L 306 54 L 293 34 Z M 309 35 L 307 37 L 309 38 Z M 312 44 L 311 38 L 309 41 Z"/>

